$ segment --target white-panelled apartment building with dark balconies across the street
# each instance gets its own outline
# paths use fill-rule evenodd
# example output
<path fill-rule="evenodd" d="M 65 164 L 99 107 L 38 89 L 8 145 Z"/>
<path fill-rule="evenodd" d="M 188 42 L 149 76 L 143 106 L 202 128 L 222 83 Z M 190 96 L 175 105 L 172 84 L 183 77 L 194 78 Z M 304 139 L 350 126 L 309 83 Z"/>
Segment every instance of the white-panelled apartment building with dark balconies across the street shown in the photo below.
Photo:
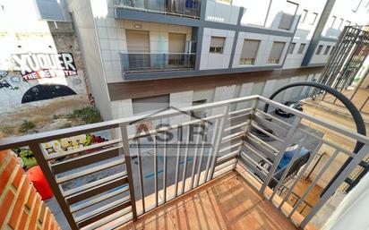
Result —
<path fill-rule="evenodd" d="M 362 0 L 66 1 L 105 119 L 317 81 Z M 287 90 L 280 100 L 305 97 Z M 155 106 L 140 106 L 154 105 Z"/>

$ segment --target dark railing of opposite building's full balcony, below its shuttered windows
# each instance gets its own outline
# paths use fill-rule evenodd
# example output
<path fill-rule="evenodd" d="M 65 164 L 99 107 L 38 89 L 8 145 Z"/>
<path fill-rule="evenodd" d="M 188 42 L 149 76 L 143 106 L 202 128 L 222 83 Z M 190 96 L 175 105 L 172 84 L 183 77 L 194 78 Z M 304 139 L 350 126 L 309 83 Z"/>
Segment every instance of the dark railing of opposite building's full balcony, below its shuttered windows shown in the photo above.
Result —
<path fill-rule="evenodd" d="M 120 58 L 124 72 L 182 71 L 194 69 L 196 54 L 121 53 Z"/>

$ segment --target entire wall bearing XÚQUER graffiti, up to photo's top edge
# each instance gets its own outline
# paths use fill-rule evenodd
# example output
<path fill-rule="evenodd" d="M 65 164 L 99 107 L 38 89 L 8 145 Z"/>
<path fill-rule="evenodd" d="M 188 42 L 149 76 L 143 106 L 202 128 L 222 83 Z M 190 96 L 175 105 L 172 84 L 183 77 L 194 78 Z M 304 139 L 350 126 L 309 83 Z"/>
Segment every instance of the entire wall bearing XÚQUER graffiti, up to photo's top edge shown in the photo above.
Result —
<path fill-rule="evenodd" d="M 58 106 L 90 105 L 87 74 L 73 23 L 56 2 L 45 3 L 0 1 L 3 124 L 6 115 L 53 106 L 50 99 L 54 98 L 58 98 L 54 100 L 56 110 L 44 116 L 55 115 Z"/>

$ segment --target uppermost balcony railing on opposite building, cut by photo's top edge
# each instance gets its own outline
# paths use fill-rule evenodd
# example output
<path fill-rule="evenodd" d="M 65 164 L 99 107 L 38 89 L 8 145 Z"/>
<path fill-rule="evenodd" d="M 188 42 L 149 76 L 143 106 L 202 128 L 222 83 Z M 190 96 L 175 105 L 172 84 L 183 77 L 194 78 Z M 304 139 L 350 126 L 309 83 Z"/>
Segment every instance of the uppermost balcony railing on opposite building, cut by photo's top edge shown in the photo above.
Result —
<path fill-rule="evenodd" d="M 200 0 L 116 0 L 116 7 L 149 13 L 162 13 L 191 18 L 200 17 Z"/>

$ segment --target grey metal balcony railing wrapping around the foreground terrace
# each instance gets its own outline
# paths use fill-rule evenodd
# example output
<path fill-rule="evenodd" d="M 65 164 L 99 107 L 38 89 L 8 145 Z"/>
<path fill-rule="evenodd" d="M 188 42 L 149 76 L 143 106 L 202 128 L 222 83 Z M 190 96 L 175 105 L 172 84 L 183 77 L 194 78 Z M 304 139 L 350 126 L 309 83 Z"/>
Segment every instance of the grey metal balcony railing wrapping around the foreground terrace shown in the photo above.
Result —
<path fill-rule="evenodd" d="M 265 114 L 262 107 L 266 103 L 295 116 L 286 121 Z M 202 114 L 206 111 L 206 117 L 195 116 L 198 111 Z M 339 132 L 365 145 L 353 154 L 338 143 L 325 140 L 324 133 L 309 125 Z M 249 132 L 253 129 L 273 141 L 262 141 L 260 135 Z M 56 145 L 57 140 L 65 137 L 96 132 L 104 132 L 107 141 L 66 150 L 45 149 L 45 143 Z M 291 143 L 298 145 L 286 162 Z M 282 213 L 294 219 L 297 226 L 305 227 L 369 152 L 367 137 L 260 96 L 181 109 L 171 107 L 151 115 L 0 141 L 0 149 L 23 146 L 29 146 L 37 158 L 73 229 L 94 229 L 113 220 L 115 225 L 122 225 L 238 168 L 251 175 L 255 188 Z M 289 204 L 287 200 L 296 193 L 296 183 L 323 146 L 331 150 L 330 158 L 315 169 L 317 174 L 311 178 L 311 185 L 295 204 Z M 296 171 L 300 153 L 306 152 L 305 149 L 309 157 Z M 305 216 L 296 218 L 299 207 L 306 203 L 307 194 L 321 182 L 322 175 L 330 172 L 330 165 L 339 155 L 353 159 L 328 191 L 316 198 L 316 204 L 305 209 Z M 269 166 L 262 165 L 262 160 Z M 296 176 L 289 176 L 291 174 Z M 281 189 L 285 192 L 283 198 L 279 197 Z"/>

